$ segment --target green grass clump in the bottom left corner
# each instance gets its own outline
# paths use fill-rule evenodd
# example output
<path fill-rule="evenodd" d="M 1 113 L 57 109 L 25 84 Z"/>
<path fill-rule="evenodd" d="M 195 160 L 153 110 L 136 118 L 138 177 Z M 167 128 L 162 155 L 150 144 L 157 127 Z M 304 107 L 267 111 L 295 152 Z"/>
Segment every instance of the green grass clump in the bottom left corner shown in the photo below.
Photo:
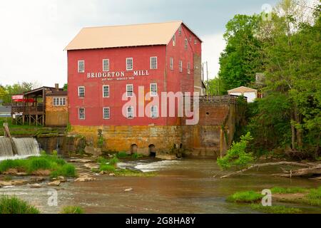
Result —
<path fill-rule="evenodd" d="M 18 197 L 2 195 L 0 214 L 39 214 L 39 210 Z"/>

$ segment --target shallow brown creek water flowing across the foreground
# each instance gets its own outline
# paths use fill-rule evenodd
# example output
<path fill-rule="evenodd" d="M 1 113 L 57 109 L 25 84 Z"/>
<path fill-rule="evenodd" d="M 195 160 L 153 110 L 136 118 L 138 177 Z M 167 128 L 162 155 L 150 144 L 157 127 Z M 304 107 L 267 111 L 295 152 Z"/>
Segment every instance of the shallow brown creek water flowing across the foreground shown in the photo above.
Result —
<path fill-rule="evenodd" d="M 18 195 L 45 213 L 58 213 L 66 205 L 82 207 L 86 213 L 259 213 L 247 204 L 226 202 L 237 191 L 262 191 L 271 187 L 319 187 L 320 182 L 303 178 L 271 177 L 275 170 L 264 169 L 238 177 L 220 179 L 215 160 L 141 160 L 122 162 L 121 167 L 157 171 L 156 177 L 96 176 L 94 182 L 66 182 L 55 187 L 58 207 L 49 207 L 52 187 L 31 189 L 27 186 L 0 188 L 0 194 Z M 133 188 L 131 192 L 124 192 Z M 320 208 L 300 207 L 307 213 Z"/>

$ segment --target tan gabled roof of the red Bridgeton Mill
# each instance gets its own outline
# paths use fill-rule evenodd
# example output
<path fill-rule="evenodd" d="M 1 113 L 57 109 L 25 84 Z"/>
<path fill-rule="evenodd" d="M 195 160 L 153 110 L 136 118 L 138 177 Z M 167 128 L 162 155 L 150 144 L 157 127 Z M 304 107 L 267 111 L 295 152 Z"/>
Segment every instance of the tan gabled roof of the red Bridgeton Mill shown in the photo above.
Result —
<path fill-rule="evenodd" d="M 64 50 L 167 45 L 181 24 L 183 21 L 83 28 Z"/>

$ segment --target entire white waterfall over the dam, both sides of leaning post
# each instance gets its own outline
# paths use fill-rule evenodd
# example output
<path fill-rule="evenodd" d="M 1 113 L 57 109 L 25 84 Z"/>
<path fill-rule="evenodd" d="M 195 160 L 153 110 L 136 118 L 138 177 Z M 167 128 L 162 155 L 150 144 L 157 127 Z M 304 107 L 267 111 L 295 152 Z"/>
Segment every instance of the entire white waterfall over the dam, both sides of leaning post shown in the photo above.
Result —
<path fill-rule="evenodd" d="M 34 138 L 12 138 L 14 148 L 9 138 L 0 138 L 0 160 L 11 159 L 14 157 L 28 157 L 39 155 L 39 144 Z"/>

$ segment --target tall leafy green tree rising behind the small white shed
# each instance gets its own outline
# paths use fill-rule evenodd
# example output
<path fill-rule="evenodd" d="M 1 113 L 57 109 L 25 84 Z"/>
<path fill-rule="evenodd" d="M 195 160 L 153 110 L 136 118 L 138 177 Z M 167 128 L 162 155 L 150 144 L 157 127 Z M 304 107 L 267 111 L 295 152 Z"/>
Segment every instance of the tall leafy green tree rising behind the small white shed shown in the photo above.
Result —
<path fill-rule="evenodd" d="M 226 25 L 219 73 L 224 91 L 248 86 L 255 81 L 255 73 L 263 71 L 262 43 L 255 36 L 260 21 L 259 15 L 236 15 Z"/>

